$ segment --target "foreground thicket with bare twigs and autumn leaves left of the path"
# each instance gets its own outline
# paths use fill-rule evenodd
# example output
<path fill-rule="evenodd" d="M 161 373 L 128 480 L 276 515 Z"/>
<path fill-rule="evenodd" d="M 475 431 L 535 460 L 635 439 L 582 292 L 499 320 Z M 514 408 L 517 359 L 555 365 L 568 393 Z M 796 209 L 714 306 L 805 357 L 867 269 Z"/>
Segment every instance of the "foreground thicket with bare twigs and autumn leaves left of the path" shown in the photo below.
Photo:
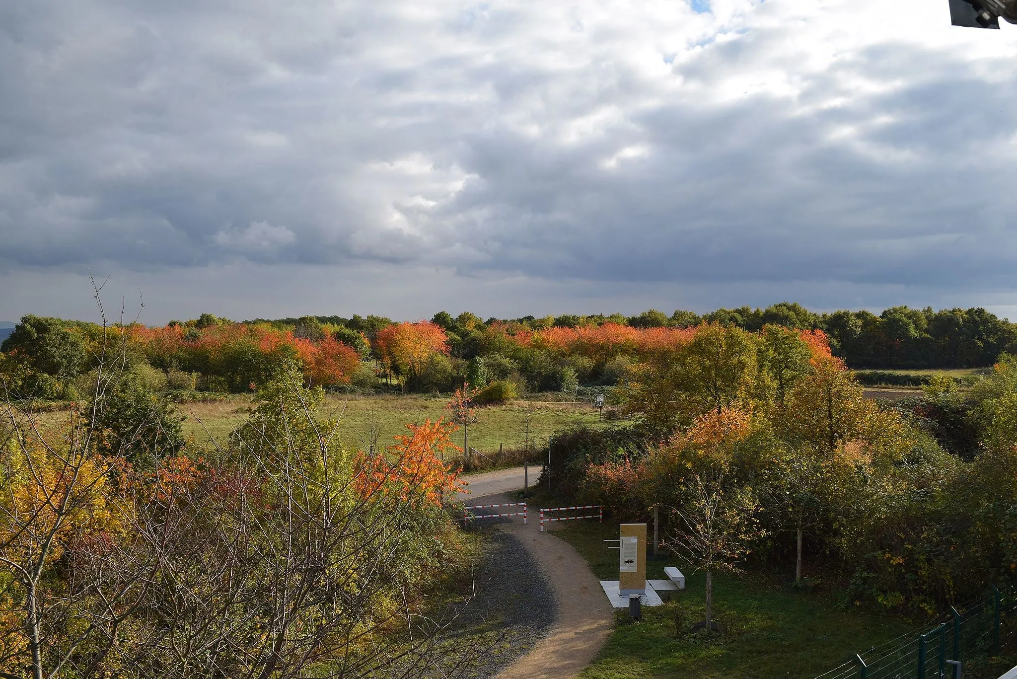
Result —
<path fill-rule="evenodd" d="M 185 455 L 147 434 L 146 373 L 97 375 L 99 418 L 61 431 L 0 400 L 0 668 L 430 676 L 452 644 L 425 595 L 462 553 L 448 427 L 411 426 L 384 456 L 345 448 L 284 361 L 228 444 Z"/>

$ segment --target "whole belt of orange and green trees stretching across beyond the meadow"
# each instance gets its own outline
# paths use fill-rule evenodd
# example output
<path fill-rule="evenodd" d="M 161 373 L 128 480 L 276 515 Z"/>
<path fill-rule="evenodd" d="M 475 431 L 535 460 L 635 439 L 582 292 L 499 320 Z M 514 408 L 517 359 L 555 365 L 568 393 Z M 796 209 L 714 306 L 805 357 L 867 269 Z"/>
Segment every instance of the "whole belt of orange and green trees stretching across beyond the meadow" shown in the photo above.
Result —
<path fill-rule="evenodd" d="M 575 396 L 587 388 L 605 393 L 635 366 L 680 353 L 711 328 L 751 336 L 745 341 L 758 345 L 761 356 L 769 351 L 766 338 L 786 328 L 828 344 L 848 367 L 875 369 L 861 376 L 865 384 L 905 384 L 901 379 L 909 376 L 887 369 L 985 367 L 1003 353 L 1017 353 L 1017 326 L 983 308 L 818 315 L 790 302 L 704 316 L 650 309 L 633 317 L 483 320 L 439 312 L 415 323 L 379 316 L 235 322 L 202 314 L 161 327 L 108 330 L 115 331 L 125 367 L 174 399 L 254 391 L 293 361 L 306 384 L 330 389 L 448 393 L 469 383 L 489 390 L 483 398 L 504 400 L 539 392 Z M 17 384 L 17 391 L 36 397 L 78 398 L 91 391 L 110 337 L 93 323 L 25 316 L 0 343 L 0 378 L 8 390 Z"/>

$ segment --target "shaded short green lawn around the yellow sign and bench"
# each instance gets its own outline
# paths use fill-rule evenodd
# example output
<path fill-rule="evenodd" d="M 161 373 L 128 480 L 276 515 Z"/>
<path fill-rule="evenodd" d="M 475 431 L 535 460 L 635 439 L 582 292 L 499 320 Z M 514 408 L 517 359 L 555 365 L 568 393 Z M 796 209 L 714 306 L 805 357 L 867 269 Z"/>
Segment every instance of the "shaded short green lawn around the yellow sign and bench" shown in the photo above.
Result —
<path fill-rule="evenodd" d="M 652 526 L 648 526 L 652 530 Z M 617 524 L 575 521 L 555 534 L 587 559 L 598 578 L 618 577 L 618 552 L 604 540 L 617 540 Z M 648 560 L 647 577 L 664 578 L 673 560 Z M 682 569 L 683 572 L 687 569 Z M 845 611 L 822 592 L 791 589 L 754 577 L 714 575 L 714 616 L 725 634 L 692 634 L 703 619 L 706 578 L 686 578 L 686 588 L 661 607 L 645 607 L 632 623 L 619 613 L 614 633 L 585 679 L 812 679 L 859 650 L 879 645 L 913 628 L 914 623 L 877 613 Z M 682 618 L 680 635 L 675 617 Z"/>

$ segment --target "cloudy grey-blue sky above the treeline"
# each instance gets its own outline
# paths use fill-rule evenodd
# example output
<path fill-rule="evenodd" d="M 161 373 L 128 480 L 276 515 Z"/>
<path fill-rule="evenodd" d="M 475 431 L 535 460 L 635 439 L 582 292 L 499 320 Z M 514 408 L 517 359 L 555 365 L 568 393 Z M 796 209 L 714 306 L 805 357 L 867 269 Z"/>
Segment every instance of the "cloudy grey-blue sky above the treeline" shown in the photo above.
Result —
<path fill-rule="evenodd" d="M 947 0 L 0 0 L 0 321 L 1017 318 L 1015 57 Z"/>

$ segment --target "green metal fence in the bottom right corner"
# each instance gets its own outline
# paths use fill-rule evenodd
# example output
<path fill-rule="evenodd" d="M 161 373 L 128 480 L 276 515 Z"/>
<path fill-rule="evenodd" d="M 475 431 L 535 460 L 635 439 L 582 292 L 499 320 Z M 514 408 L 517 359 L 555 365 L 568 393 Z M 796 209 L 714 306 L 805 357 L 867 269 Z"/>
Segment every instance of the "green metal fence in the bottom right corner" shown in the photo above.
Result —
<path fill-rule="evenodd" d="M 1017 617 L 1017 587 L 951 607 L 922 627 L 860 653 L 816 679 L 949 679 L 955 663 L 1000 647 L 1000 625 Z"/>

